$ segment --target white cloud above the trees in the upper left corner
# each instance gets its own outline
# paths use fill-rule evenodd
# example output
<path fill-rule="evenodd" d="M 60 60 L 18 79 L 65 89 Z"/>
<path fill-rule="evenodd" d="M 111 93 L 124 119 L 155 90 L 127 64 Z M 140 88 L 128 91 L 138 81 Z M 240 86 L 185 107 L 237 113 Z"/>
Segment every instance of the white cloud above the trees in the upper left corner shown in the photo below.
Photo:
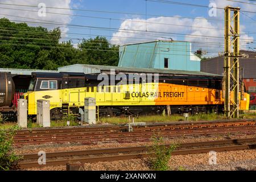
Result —
<path fill-rule="evenodd" d="M 43 26 L 47 27 L 49 30 L 52 28 L 60 27 L 61 32 L 63 32 L 62 36 L 65 37 L 68 32 L 69 28 L 67 26 L 55 25 L 54 23 L 70 23 L 72 18 L 70 15 L 57 15 L 57 14 L 50 14 L 51 13 L 61 13 L 61 14 L 72 14 L 71 10 L 63 10 L 63 9 L 46 9 L 46 16 L 40 17 L 38 16 L 38 11 L 40 8 L 38 7 L 24 7 L 24 6 L 14 6 L 14 5 L 32 5 L 38 6 L 39 3 L 45 3 L 46 7 L 64 7 L 65 9 L 71 8 L 71 0 L 1 0 L 1 3 L 7 3 L 10 5 L 0 5 L 0 7 L 5 7 L 7 9 L 1 9 L 0 18 L 6 17 L 11 20 L 21 20 L 25 22 L 43 22 L 43 23 L 53 23 L 53 24 L 35 24 L 35 23 L 28 23 L 30 26 Z M 9 8 L 9 9 L 8 9 Z M 22 9 L 22 10 L 30 10 L 30 11 L 20 11 L 20 10 L 10 10 L 10 9 Z M 47 13 L 48 12 L 48 13 Z M 3 15 L 4 14 L 4 15 Z M 7 15 L 14 15 L 14 16 L 7 16 Z M 25 19 L 21 17 L 31 18 Z M 48 22 L 47 22 L 48 21 Z M 19 22 L 17 22 L 19 23 Z"/>

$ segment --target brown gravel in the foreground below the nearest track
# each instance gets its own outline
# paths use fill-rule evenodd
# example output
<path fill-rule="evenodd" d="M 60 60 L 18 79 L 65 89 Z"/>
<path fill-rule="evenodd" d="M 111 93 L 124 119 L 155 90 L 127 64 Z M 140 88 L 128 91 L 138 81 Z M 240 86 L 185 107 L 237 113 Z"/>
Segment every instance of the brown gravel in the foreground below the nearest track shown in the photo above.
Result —
<path fill-rule="evenodd" d="M 216 171 L 216 170 L 253 170 L 256 168 L 256 150 L 217 152 L 217 165 L 209 165 L 209 154 L 172 156 L 169 166 L 172 170 Z M 65 166 L 31 168 L 28 170 L 64 171 Z M 88 171 L 146 171 L 150 170 L 147 159 L 118 160 L 114 162 L 86 163 Z"/>

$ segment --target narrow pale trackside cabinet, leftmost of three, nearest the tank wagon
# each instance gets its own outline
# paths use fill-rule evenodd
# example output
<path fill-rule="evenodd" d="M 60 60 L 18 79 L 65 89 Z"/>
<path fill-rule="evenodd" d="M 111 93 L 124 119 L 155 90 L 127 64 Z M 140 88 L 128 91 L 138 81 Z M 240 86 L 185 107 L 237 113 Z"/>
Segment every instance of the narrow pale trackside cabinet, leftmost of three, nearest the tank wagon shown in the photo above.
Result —
<path fill-rule="evenodd" d="M 18 126 L 27 128 L 27 100 L 18 100 Z"/>

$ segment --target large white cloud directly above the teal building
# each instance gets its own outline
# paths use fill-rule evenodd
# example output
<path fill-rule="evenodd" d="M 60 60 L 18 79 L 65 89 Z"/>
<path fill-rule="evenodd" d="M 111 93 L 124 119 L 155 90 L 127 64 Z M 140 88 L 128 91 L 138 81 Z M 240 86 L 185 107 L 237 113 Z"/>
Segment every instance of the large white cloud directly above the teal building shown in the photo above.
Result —
<path fill-rule="evenodd" d="M 181 35 L 176 34 L 185 34 L 189 27 L 180 28 L 180 26 L 175 25 L 179 24 L 181 26 L 187 26 L 191 23 L 192 19 L 179 18 L 179 16 L 177 16 L 176 18 L 163 16 L 160 16 L 158 18 L 149 18 L 147 19 L 147 23 L 145 19 L 127 19 L 121 24 L 121 26 L 119 27 L 119 31 L 113 34 L 113 38 L 111 41 L 115 44 L 127 44 L 136 42 L 150 42 L 157 39 L 177 39 L 177 37 Z M 145 30 L 147 30 L 147 32 L 143 32 Z M 175 34 L 168 34 L 169 32 Z"/>

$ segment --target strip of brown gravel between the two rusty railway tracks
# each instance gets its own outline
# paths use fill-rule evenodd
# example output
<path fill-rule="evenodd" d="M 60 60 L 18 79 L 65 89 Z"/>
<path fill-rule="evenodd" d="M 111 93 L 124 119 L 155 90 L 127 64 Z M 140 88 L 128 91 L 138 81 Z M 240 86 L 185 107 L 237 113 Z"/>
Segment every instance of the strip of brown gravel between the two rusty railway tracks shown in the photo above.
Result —
<path fill-rule="evenodd" d="M 205 142 L 213 140 L 225 139 L 242 139 L 242 138 L 256 138 L 255 133 L 236 133 L 236 134 L 216 134 L 216 135 L 192 135 L 181 136 L 166 139 L 167 143 L 192 143 L 192 142 Z M 63 144 L 43 144 L 36 146 L 23 146 L 15 148 L 17 154 L 34 154 L 39 151 L 56 152 L 56 151 L 72 151 L 72 150 L 90 150 L 97 148 L 118 148 L 118 147 L 135 147 L 146 146 L 150 142 L 133 142 L 130 141 L 119 143 L 117 141 L 97 142 L 97 143 L 63 143 Z"/>

